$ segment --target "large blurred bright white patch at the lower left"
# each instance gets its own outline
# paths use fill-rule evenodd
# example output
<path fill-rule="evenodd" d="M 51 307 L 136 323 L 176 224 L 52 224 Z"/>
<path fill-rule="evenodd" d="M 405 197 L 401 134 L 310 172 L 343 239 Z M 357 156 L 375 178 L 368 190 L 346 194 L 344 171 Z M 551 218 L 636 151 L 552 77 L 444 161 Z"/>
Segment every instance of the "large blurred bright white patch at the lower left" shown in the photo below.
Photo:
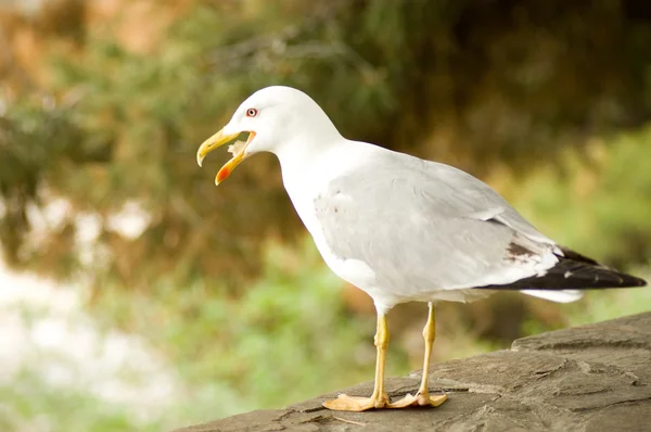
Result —
<path fill-rule="evenodd" d="M 27 373 L 127 406 L 143 421 L 159 417 L 179 387 L 171 368 L 139 336 L 103 330 L 80 292 L 0 263 L 0 386 Z"/>

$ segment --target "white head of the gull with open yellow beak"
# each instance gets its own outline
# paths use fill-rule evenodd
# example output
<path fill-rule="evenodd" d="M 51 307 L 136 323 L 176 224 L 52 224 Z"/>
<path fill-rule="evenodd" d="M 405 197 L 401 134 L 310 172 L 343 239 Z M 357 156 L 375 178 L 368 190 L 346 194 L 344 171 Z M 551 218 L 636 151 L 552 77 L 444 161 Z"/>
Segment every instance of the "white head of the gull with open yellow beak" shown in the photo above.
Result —
<path fill-rule="evenodd" d="M 292 151 L 288 149 L 291 145 L 318 145 L 339 136 L 330 118 L 309 96 L 291 87 L 267 87 L 242 102 L 228 125 L 201 144 L 196 152 L 199 166 L 209 152 L 241 134 L 248 134 L 248 138 L 231 147 L 233 157 L 217 173 L 216 185 L 252 154 L 279 154 Z"/>

